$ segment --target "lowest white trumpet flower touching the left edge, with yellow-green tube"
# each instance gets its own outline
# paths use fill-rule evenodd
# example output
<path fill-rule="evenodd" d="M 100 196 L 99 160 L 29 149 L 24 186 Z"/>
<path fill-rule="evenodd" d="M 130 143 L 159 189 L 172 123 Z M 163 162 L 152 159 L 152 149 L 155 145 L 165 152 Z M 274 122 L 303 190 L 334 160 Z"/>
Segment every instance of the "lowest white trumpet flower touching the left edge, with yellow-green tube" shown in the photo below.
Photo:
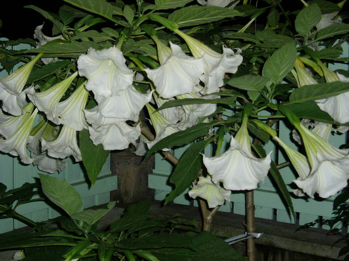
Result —
<path fill-rule="evenodd" d="M 30 141 L 29 134 L 33 126 L 35 116 L 38 110 L 35 109 L 18 129 L 6 140 L 0 139 L 0 151 L 9 153 L 13 156 L 19 156 L 24 164 L 30 164 L 33 159 L 29 158 L 26 153 L 26 144 Z"/>

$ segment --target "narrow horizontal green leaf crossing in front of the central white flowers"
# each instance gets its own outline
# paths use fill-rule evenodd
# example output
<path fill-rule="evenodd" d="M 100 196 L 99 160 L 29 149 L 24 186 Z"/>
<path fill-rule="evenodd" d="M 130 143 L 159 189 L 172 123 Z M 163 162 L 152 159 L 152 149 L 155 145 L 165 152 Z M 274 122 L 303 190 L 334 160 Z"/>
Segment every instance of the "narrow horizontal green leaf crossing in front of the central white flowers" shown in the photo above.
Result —
<path fill-rule="evenodd" d="M 162 110 L 162 109 L 175 107 L 179 105 L 190 105 L 190 104 L 219 103 L 219 104 L 233 105 L 235 100 L 236 100 L 236 96 L 217 98 L 217 99 L 204 99 L 204 98 L 176 99 L 176 100 L 169 100 L 165 102 L 157 110 Z"/>

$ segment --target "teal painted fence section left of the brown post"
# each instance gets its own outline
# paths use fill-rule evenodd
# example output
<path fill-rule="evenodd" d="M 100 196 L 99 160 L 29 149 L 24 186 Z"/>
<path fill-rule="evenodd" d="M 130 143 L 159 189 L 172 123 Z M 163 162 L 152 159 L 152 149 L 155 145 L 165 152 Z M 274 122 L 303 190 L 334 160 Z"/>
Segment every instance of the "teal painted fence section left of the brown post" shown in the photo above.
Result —
<path fill-rule="evenodd" d="M 0 39 L 0 40 L 3 40 Z M 13 49 L 28 49 L 29 46 L 21 44 Z M 16 68 L 15 68 L 16 69 Z M 6 72 L 0 73 L 0 78 L 6 77 Z M 65 159 L 67 167 L 61 172 L 50 174 L 58 178 L 65 178 L 73 184 L 83 198 L 84 208 L 101 205 L 110 201 L 110 191 L 117 189 L 117 176 L 110 171 L 110 158 L 103 166 L 95 185 L 91 188 L 86 182 L 86 175 L 83 173 L 79 163 L 74 163 L 70 158 Z M 38 174 L 43 173 L 33 165 L 23 165 L 12 156 L 0 154 L 0 182 L 7 186 L 7 189 L 20 187 L 25 182 L 34 182 Z M 33 202 L 20 205 L 16 211 L 25 217 L 35 221 L 43 221 L 61 215 L 45 202 Z M 23 223 L 7 218 L 0 219 L 0 233 L 8 232 L 25 226 Z"/>

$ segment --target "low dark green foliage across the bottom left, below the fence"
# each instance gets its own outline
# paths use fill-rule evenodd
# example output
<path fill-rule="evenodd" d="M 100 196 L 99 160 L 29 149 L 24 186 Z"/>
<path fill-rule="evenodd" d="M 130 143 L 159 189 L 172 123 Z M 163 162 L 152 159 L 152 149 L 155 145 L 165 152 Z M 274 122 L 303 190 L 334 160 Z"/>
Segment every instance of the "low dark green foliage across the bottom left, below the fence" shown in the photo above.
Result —
<path fill-rule="evenodd" d="M 44 193 L 48 198 L 69 214 L 74 212 L 67 202 L 67 195 L 78 201 L 80 195 L 65 180 L 41 175 Z M 16 192 L 36 187 L 36 184 L 25 184 Z M 1 198 L 5 186 L 0 184 Z M 52 191 L 62 190 L 64 193 Z M 47 192 L 51 191 L 51 192 Z M 78 196 L 77 196 L 78 195 Z M 69 206 L 68 206 L 69 205 Z M 191 221 L 180 222 L 177 215 L 170 219 L 154 219 L 148 214 L 150 202 L 141 201 L 131 205 L 126 213 L 111 224 L 110 230 L 100 231 L 92 226 L 114 207 L 110 202 L 106 208 L 81 210 L 71 216 L 73 226 L 83 233 L 65 229 L 66 218 L 56 218 L 57 224 L 48 221 L 41 224 L 39 232 L 6 233 L 0 235 L 0 250 L 20 248 L 25 250 L 26 260 L 82 260 L 111 261 L 127 257 L 129 260 L 167 260 L 177 261 L 178 257 L 192 260 L 246 260 L 222 239 L 209 232 L 193 233 L 184 230 L 193 228 Z M 69 219 L 70 220 L 70 219 Z M 58 227 L 60 229 L 58 229 Z M 208 248 L 208 245 L 214 247 Z M 211 249 L 211 250 L 209 250 Z M 219 250 L 217 253 L 213 250 Z"/>

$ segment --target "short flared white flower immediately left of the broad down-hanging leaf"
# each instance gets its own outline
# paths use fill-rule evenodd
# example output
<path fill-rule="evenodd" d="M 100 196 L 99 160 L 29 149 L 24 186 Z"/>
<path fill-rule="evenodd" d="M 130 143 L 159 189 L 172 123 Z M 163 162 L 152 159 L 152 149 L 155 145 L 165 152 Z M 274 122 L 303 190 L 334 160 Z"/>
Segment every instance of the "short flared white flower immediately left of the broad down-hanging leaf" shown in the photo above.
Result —
<path fill-rule="evenodd" d="M 58 137 L 53 141 L 41 140 L 42 150 L 53 158 L 65 159 L 73 156 L 75 161 L 81 161 L 81 152 L 77 144 L 76 130 L 63 125 Z"/>

